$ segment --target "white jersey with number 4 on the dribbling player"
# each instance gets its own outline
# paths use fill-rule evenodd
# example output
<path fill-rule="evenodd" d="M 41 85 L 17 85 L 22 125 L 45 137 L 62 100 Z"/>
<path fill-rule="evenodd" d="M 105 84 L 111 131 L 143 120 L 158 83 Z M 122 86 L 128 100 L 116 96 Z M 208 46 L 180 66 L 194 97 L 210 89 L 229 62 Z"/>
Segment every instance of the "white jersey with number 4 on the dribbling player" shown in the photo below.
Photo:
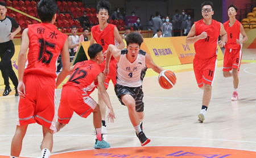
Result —
<path fill-rule="evenodd" d="M 142 85 L 146 74 L 146 52 L 139 50 L 137 59 L 130 63 L 127 59 L 127 49 L 121 51 L 120 59 L 117 63 L 117 84 L 127 87 L 139 87 Z"/>

